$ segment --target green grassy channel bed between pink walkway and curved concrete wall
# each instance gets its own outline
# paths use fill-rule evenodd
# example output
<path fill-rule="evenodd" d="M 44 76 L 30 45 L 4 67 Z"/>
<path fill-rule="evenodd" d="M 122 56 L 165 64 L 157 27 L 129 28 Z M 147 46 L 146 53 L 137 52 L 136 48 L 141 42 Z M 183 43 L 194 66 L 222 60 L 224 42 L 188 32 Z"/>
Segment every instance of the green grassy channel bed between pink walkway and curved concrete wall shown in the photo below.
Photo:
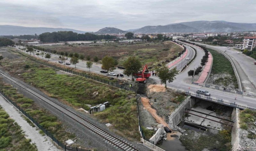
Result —
<path fill-rule="evenodd" d="M 211 74 L 228 74 L 229 76 L 221 77 L 215 80 L 215 84 L 228 86 L 233 83 L 238 88 L 237 79 L 230 61 L 219 52 L 207 49 L 213 55 L 213 66 Z"/>

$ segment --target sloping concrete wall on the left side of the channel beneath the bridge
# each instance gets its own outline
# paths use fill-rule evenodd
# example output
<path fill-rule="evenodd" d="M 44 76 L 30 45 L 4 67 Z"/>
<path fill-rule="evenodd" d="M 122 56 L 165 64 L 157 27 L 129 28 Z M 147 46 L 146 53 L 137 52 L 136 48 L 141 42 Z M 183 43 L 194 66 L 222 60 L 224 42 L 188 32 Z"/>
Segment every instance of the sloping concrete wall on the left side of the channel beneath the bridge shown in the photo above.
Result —
<path fill-rule="evenodd" d="M 185 115 L 184 111 L 186 108 L 191 109 L 194 104 L 198 102 L 197 98 L 187 96 L 186 100 L 182 102 L 182 104 L 176 108 L 171 115 L 169 116 L 169 127 L 173 129 L 174 126 L 177 126 L 183 119 Z"/>

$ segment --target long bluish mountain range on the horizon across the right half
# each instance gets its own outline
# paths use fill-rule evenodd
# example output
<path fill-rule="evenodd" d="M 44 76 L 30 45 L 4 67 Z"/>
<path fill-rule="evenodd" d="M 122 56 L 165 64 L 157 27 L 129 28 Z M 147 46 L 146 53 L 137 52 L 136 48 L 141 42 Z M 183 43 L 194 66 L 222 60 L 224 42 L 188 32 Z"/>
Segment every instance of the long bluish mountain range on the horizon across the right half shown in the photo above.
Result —
<path fill-rule="evenodd" d="M 240 32 L 256 31 L 256 23 L 235 23 L 223 20 L 190 21 L 172 23 L 165 26 L 145 26 L 139 29 L 127 30 L 135 33 L 196 33 L 196 32 Z"/>

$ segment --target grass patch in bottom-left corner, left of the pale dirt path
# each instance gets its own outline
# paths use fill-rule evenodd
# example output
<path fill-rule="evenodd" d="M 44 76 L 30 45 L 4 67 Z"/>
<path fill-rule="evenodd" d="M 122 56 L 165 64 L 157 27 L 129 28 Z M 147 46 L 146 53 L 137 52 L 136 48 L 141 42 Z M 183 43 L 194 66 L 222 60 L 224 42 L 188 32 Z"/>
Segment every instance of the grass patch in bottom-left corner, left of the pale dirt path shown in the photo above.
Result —
<path fill-rule="evenodd" d="M 0 150 L 1 151 L 37 151 L 31 140 L 26 139 L 21 127 L 9 118 L 9 115 L 0 106 Z"/>

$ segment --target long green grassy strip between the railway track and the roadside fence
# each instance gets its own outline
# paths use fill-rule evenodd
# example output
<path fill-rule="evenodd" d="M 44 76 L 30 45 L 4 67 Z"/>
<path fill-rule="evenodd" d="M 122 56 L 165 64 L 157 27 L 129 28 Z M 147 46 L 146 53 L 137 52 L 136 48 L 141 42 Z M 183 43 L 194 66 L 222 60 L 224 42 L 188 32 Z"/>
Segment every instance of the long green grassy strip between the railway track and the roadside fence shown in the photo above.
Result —
<path fill-rule="evenodd" d="M 119 90 L 76 75 L 58 74 L 57 70 L 39 65 L 26 57 L 12 60 L 5 58 L 0 63 L 10 74 L 21 74 L 18 78 L 74 108 L 88 110 L 90 105 L 108 101 L 111 106 L 94 115 L 104 123 L 113 124 L 121 136 L 139 138 L 134 92 Z M 29 65 L 29 68 L 25 68 L 25 65 Z M 98 95 L 94 96 L 93 92 L 98 92 Z M 29 102 L 22 105 L 29 107 Z"/>

